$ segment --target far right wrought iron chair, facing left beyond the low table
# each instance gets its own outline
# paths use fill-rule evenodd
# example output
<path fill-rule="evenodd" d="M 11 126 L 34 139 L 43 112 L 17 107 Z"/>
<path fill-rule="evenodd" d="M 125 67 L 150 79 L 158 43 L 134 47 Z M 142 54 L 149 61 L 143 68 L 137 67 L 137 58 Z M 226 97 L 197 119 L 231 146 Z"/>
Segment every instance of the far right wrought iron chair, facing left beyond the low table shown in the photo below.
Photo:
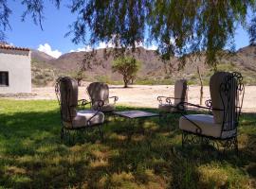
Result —
<path fill-rule="evenodd" d="M 188 99 L 188 84 L 186 79 L 176 80 L 174 85 L 174 97 L 168 96 L 157 96 L 159 101 L 158 110 L 160 115 L 167 115 L 170 112 L 186 112 L 186 107 L 184 110 L 178 109 L 177 105 L 180 102 L 185 102 Z"/>

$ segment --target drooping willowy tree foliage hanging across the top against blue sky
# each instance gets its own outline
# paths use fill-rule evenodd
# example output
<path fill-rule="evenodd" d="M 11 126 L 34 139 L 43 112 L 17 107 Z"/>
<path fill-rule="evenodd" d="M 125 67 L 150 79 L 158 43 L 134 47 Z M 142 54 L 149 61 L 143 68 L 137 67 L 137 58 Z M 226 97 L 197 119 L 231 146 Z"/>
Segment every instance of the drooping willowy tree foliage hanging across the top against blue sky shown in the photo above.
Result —
<path fill-rule="evenodd" d="M 30 14 L 42 26 L 46 1 L 21 2 L 26 7 L 22 18 Z M 61 0 L 51 2 L 59 8 Z M 116 50 L 149 41 L 157 44 L 163 60 L 178 55 L 183 66 L 190 53 L 205 52 L 206 63 L 216 67 L 223 48 L 234 49 L 235 28 L 247 27 L 247 12 L 256 11 L 256 0 L 73 0 L 68 7 L 77 14 L 67 33 L 74 43 L 112 43 Z M 0 1 L 3 34 L 10 13 L 7 0 Z"/>

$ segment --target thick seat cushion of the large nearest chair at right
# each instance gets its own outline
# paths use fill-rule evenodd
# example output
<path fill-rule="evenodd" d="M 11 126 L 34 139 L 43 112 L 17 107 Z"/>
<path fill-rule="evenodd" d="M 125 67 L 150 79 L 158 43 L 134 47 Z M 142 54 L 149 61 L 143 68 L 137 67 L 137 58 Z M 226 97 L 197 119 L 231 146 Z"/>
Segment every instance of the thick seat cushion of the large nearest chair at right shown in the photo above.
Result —
<path fill-rule="evenodd" d="M 215 138 L 228 138 L 236 134 L 236 129 L 222 132 L 221 124 L 215 124 L 212 115 L 209 114 L 191 114 L 186 117 L 202 129 L 202 135 L 212 136 Z M 196 133 L 196 126 L 184 116 L 179 118 L 179 129 Z"/>

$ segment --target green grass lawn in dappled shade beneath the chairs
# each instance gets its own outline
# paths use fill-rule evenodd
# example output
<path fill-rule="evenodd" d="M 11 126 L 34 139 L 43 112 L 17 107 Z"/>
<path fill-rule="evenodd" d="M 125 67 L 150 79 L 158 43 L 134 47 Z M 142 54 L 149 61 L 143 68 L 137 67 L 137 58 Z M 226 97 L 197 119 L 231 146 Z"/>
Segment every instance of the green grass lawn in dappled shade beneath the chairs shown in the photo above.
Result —
<path fill-rule="evenodd" d="M 177 128 L 174 115 L 146 119 L 128 137 L 131 127 L 117 119 L 104 126 L 104 141 L 95 130 L 69 145 L 56 101 L 2 99 L 0 188 L 256 187 L 256 113 L 241 117 L 239 157 L 183 149 Z"/>

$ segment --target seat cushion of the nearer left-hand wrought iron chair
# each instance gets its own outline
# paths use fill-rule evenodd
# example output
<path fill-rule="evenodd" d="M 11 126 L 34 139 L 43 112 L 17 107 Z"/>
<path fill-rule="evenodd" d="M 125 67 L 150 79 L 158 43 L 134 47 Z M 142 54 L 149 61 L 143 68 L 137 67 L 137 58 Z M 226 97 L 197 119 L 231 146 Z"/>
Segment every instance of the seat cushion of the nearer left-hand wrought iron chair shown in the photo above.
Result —
<path fill-rule="evenodd" d="M 93 117 L 93 115 L 97 111 L 93 110 L 82 110 L 77 112 L 77 116 L 74 117 L 72 124 L 73 128 L 83 128 L 87 126 L 87 121 Z M 96 125 L 96 124 L 101 124 L 104 122 L 104 113 L 103 112 L 98 112 L 97 115 L 95 115 L 91 120 L 90 124 L 91 125 Z M 64 122 L 64 126 L 66 128 L 72 128 L 72 125 L 70 122 Z"/>

